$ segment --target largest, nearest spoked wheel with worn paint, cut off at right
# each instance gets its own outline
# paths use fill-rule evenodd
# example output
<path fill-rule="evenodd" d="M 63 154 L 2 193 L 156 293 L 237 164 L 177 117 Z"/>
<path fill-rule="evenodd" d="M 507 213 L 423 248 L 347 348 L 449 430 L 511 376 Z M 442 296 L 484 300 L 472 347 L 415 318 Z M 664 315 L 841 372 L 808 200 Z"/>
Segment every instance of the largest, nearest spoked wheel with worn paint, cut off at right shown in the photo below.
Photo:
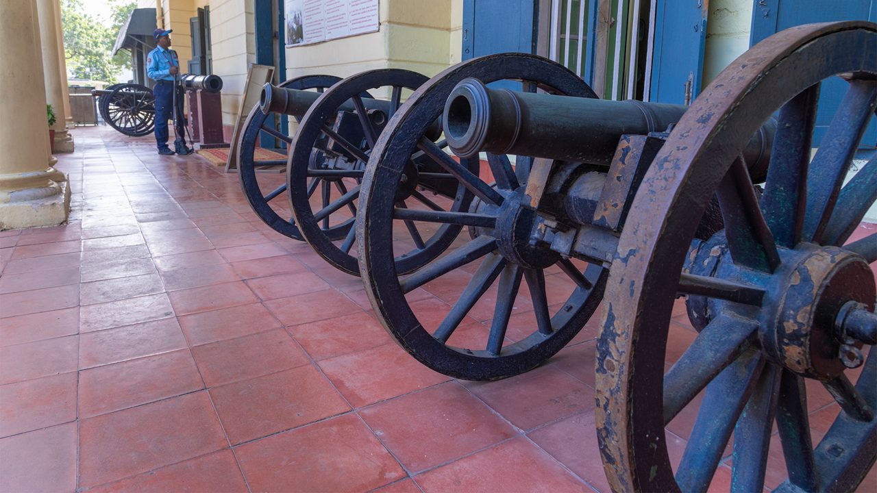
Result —
<path fill-rule="evenodd" d="M 835 75 L 846 94 L 811 159 L 819 90 Z M 722 461 L 731 490 L 760 491 L 771 447 L 788 479 L 767 486 L 781 490 L 854 489 L 873 465 L 877 235 L 845 243 L 877 198 L 877 161 L 844 183 L 874 120 L 875 75 L 877 25 L 780 32 L 718 75 L 655 158 L 619 239 L 597 345 L 597 435 L 616 491 L 705 491 Z M 738 156 L 775 111 L 759 200 Z M 714 194 L 724 232 L 689 250 Z M 707 324 L 667 369 L 679 292 L 707 298 Z M 829 426 L 809 419 L 822 387 L 839 407 Z M 698 395 L 675 466 L 665 426 Z"/>

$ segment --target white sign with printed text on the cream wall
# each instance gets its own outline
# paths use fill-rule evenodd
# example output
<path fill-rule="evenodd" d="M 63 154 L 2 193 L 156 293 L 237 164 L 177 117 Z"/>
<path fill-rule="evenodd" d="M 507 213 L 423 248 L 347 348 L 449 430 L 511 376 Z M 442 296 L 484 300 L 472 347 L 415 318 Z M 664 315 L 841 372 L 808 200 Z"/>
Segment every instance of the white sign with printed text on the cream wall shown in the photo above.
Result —
<path fill-rule="evenodd" d="M 378 30 L 378 0 L 286 0 L 286 46 Z"/>

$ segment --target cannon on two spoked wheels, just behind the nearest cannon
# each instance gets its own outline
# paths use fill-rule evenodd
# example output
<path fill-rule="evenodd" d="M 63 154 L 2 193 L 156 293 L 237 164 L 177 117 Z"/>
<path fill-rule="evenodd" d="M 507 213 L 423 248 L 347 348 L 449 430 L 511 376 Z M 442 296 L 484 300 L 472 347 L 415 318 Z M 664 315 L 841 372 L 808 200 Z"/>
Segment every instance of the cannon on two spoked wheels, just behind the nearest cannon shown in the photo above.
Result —
<path fill-rule="evenodd" d="M 253 109 L 240 145 L 241 183 L 253 210 L 275 231 L 307 241 L 336 268 L 359 275 L 354 217 L 368 153 L 401 106 L 403 94 L 417 89 L 426 80 L 424 75 L 409 70 L 381 69 L 336 82 L 322 94 L 289 84 L 283 87 L 266 84 L 260 97 L 261 115 Z M 256 173 L 255 168 L 263 162 L 247 158 L 253 155 L 256 136 L 265 131 L 264 118 L 272 114 L 296 118 L 295 137 L 282 136 L 290 144 L 288 159 L 282 161 L 287 165 L 286 182 L 274 180 L 272 185 L 260 186 L 257 177 L 266 184 L 271 181 L 263 177 L 266 174 Z M 279 132 L 268 132 L 280 137 Z M 431 142 L 439 139 L 438 120 L 431 122 L 427 133 Z M 464 161 L 462 166 L 467 163 Z M 475 161 L 472 164 L 477 165 Z M 421 230 L 413 218 L 425 209 L 443 211 L 446 207 L 450 211 L 465 211 L 473 196 L 459 184 L 451 183 L 453 175 L 432 164 L 419 151 L 410 156 L 410 166 L 400 179 L 406 185 L 396 202 L 400 207 L 410 204 L 412 219 L 403 220 L 400 225 L 409 248 L 395 261 L 401 272 L 410 272 L 442 254 L 462 229 L 439 225 Z M 279 206 L 268 204 L 284 192 L 289 197 L 291 219 L 285 218 L 287 214 L 279 211 Z"/>

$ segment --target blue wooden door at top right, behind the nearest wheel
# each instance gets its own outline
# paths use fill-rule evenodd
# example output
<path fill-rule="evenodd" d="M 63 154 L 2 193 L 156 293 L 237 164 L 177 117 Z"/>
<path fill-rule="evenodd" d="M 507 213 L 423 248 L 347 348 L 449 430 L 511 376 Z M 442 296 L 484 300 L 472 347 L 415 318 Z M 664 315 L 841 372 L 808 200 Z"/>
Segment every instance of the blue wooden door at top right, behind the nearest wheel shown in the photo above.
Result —
<path fill-rule="evenodd" d="M 870 20 L 877 22 L 877 0 L 755 0 L 752 9 L 752 36 L 750 45 L 794 25 L 838 20 Z M 838 110 L 847 84 L 839 77 L 823 82 L 816 111 L 813 145 L 818 146 L 831 117 Z M 873 118 L 862 138 L 862 148 L 877 145 L 877 124 Z"/>

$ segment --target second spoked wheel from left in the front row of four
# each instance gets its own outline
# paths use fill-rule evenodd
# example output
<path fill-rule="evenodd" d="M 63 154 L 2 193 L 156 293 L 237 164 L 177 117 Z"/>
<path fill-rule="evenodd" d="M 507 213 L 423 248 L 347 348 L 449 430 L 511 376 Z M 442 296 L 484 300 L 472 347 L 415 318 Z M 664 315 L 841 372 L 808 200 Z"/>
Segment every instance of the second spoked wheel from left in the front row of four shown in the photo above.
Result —
<path fill-rule="evenodd" d="M 287 168 L 289 203 L 296 224 L 317 254 L 349 274 L 360 274 L 353 221 L 366 163 L 389 119 L 402 105 L 403 96 L 426 81 L 425 75 L 400 68 L 350 76 L 310 106 L 296 133 Z M 363 94 L 386 99 L 368 100 Z M 415 207 L 414 203 L 426 206 L 431 200 L 417 191 L 421 184 L 417 156 L 406 157 L 410 166 L 403 174 L 405 191 L 397 203 L 400 207 Z M 450 210 L 468 207 L 469 200 L 471 196 L 465 193 L 453 197 Z M 410 245 L 396 255 L 400 272 L 410 272 L 436 258 L 460 232 L 460 227 L 452 225 L 418 230 L 413 221 L 398 227 Z"/>

